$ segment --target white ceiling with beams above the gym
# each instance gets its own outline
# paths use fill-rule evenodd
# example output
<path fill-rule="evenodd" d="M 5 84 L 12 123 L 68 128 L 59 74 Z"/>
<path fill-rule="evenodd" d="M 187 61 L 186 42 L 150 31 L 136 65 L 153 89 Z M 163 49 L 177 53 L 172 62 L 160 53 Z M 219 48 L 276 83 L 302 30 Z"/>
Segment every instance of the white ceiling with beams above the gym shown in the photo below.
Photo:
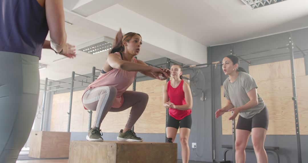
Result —
<path fill-rule="evenodd" d="M 285 0 L 251 10 L 241 0 L 65 0 L 67 42 L 86 43 L 103 36 L 140 33 L 138 59 L 168 57 L 184 64 L 207 63 L 207 46 L 227 44 L 308 27 L 308 0 Z M 49 39 L 49 37 L 47 37 Z M 75 59 L 52 63 L 63 56 L 43 49 L 40 78 L 59 80 L 72 71 L 101 69 L 107 52 L 77 51 Z"/>

